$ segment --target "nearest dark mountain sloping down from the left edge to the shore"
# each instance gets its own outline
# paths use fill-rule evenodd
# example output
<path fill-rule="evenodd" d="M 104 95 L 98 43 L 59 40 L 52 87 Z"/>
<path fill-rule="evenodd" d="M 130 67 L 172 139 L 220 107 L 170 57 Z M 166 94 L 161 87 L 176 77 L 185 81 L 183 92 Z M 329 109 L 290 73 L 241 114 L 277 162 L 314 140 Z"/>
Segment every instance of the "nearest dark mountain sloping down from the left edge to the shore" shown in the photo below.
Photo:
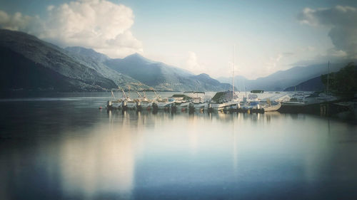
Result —
<path fill-rule="evenodd" d="M 0 29 L 0 90 L 102 91 L 139 81 L 18 31 Z M 136 87 L 133 85 L 133 87 Z"/>

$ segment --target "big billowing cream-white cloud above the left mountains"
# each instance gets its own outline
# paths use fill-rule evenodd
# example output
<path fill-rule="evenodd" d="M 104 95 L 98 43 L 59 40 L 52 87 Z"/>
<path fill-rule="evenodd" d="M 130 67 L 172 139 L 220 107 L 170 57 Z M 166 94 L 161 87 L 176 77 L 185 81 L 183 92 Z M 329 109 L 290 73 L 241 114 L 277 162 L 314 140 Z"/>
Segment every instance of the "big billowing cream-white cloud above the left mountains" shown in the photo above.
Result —
<path fill-rule="evenodd" d="M 134 14 L 129 7 L 106 0 L 51 5 L 44 19 L 20 13 L 9 16 L 0 11 L 2 28 L 32 33 L 60 46 L 94 48 L 112 58 L 143 51 L 141 41 L 131 33 L 133 23 Z"/>

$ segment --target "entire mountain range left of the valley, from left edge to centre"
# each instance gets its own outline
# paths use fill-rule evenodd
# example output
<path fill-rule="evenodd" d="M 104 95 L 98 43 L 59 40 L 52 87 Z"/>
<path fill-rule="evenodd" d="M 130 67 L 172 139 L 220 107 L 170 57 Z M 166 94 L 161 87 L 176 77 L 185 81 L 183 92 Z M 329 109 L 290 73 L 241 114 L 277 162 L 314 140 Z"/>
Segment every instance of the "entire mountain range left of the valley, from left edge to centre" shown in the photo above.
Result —
<path fill-rule="evenodd" d="M 0 91 L 124 90 L 218 91 L 231 87 L 209 75 L 148 60 L 111 59 L 89 48 L 60 48 L 19 31 L 0 29 Z"/>

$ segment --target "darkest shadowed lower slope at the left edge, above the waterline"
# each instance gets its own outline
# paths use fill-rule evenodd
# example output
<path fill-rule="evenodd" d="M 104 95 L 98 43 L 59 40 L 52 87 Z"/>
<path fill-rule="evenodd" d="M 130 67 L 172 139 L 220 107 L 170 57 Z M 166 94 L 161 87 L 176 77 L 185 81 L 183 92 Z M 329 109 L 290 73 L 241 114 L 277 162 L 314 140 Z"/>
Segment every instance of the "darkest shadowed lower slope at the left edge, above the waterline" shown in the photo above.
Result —
<path fill-rule="evenodd" d="M 116 86 L 113 81 L 96 74 L 84 79 L 69 78 L 9 48 L 0 47 L 0 55 L 1 92 L 11 90 L 82 92 L 100 91 Z"/>

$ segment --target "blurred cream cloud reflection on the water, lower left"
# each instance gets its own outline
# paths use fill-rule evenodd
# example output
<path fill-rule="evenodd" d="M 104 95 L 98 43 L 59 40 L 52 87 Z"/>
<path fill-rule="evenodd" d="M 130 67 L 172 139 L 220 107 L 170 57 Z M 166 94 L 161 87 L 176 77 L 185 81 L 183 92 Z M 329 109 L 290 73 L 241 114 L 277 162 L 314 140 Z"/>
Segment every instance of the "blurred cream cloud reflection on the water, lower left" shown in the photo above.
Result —
<path fill-rule="evenodd" d="M 136 135 L 122 125 L 99 125 L 68 132 L 61 141 L 61 184 L 69 196 L 120 194 L 129 198 L 134 186 Z"/>

